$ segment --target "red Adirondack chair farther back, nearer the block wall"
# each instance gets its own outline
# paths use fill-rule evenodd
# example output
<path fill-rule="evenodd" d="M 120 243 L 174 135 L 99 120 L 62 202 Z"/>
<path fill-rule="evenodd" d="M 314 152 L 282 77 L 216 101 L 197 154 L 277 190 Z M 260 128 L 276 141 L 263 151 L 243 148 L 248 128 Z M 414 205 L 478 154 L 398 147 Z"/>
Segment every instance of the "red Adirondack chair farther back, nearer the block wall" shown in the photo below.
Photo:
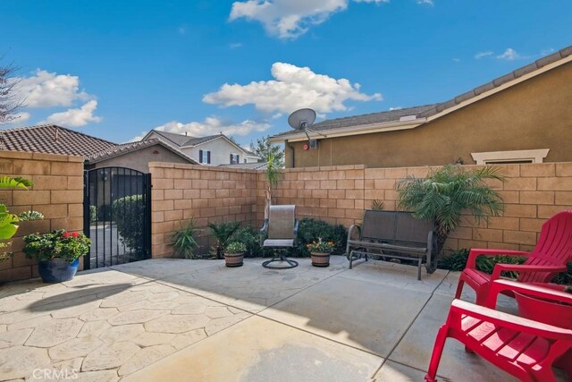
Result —
<path fill-rule="evenodd" d="M 527 259 L 522 265 L 496 264 L 492 275 L 487 275 L 476 269 L 476 257 L 479 255 L 522 256 Z M 562 211 L 544 222 L 540 238 L 530 253 L 522 250 L 471 249 L 467 266 L 458 279 L 455 298 L 460 298 L 463 285 L 467 283 L 475 289 L 476 304 L 484 305 L 492 281 L 498 279 L 501 272 L 517 271 L 517 281 L 521 283 L 549 283 L 559 272 L 567 270 L 569 261 L 572 261 L 572 211 Z"/>

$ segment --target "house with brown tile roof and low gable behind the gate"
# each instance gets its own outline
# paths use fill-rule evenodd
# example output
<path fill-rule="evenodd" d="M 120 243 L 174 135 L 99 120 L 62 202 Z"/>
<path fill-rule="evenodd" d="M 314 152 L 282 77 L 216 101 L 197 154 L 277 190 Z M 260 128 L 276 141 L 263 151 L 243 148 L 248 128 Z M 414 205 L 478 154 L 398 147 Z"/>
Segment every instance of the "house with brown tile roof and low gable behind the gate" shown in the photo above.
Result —
<path fill-rule="evenodd" d="M 198 163 L 161 140 L 117 144 L 54 124 L 0 131 L 0 149 L 76 155 L 85 158 L 86 169 L 121 166 L 142 173 L 149 162 Z"/>

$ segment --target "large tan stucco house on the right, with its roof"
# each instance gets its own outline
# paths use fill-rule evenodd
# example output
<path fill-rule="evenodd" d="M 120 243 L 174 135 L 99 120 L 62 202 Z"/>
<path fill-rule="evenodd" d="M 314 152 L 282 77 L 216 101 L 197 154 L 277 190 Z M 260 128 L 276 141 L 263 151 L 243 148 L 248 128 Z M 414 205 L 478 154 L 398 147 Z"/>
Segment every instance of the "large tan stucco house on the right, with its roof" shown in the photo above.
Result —
<path fill-rule="evenodd" d="M 282 132 L 286 167 L 572 161 L 572 47 L 447 102 Z"/>

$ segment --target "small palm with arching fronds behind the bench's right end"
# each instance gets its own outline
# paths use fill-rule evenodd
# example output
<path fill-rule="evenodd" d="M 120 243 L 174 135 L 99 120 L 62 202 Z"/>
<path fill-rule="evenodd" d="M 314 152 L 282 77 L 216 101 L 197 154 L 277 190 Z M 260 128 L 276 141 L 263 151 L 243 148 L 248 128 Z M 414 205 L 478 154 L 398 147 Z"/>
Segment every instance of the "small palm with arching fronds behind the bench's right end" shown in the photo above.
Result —
<path fill-rule="evenodd" d="M 464 212 L 472 213 L 478 225 L 504 211 L 501 194 L 492 190 L 487 180 L 504 183 L 505 177 L 495 166 L 465 170 L 454 165 L 433 171 L 425 179 L 408 176 L 397 183 L 399 206 L 418 219 L 435 222 L 439 254 Z"/>

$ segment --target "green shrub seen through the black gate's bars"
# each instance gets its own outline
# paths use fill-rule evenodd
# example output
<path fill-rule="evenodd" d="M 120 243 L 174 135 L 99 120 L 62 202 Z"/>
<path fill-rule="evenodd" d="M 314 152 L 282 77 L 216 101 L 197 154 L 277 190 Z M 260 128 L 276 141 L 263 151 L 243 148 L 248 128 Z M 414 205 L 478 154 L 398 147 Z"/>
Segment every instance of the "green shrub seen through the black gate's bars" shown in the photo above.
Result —
<path fill-rule="evenodd" d="M 130 195 L 116 199 L 111 209 L 123 243 L 139 253 L 144 247 L 145 234 L 143 232 L 145 219 L 143 195 Z"/>

